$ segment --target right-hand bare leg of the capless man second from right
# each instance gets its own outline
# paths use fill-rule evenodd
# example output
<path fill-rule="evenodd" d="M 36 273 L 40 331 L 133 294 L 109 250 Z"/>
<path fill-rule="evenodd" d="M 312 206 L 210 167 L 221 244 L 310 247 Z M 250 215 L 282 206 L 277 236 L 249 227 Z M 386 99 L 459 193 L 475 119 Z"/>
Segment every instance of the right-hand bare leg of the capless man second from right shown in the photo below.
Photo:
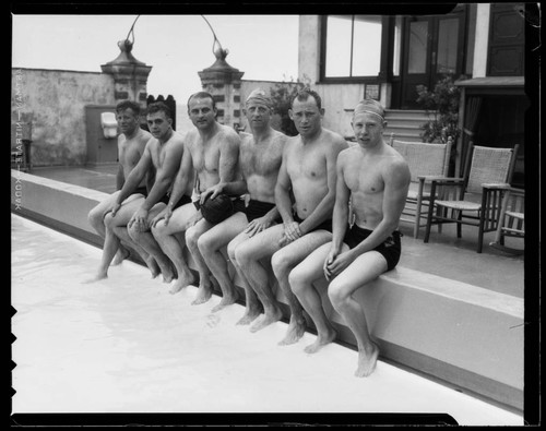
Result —
<path fill-rule="evenodd" d="M 286 336 L 278 343 L 281 346 L 297 343 L 305 334 L 306 320 L 304 309 L 292 292 L 288 275 L 290 271 L 318 247 L 331 241 L 332 234 L 328 230 L 316 230 L 282 248 L 271 258 L 273 272 L 278 286 L 286 297 L 290 308 L 290 321 Z"/>

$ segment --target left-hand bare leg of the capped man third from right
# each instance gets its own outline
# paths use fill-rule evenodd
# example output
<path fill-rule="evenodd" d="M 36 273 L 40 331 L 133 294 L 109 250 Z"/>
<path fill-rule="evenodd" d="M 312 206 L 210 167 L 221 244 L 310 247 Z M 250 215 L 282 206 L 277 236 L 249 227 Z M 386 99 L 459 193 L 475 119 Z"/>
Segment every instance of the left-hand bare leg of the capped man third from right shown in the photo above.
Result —
<path fill-rule="evenodd" d="M 238 299 L 237 290 L 229 276 L 227 261 L 221 249 L 245 229 L 247 225 L 247 216 L 242 213 L 237 213 L 212 227 L 198 239 L 200 254 L 209 270 L 211 270 L 212 275 L 218 282 L 222 290 L 222 300 L 212 309 L 212 312 L 219 311 L 235 303 Z"/>

